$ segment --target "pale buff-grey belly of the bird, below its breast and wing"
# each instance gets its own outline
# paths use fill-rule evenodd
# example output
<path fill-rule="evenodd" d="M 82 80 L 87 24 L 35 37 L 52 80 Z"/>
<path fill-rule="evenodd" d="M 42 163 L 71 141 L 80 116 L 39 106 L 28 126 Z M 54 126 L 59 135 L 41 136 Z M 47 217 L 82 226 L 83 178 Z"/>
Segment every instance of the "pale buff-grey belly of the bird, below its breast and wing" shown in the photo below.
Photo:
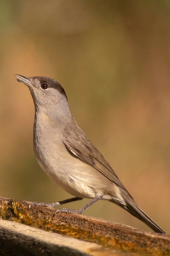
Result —
<path fill-rule="evenodd" d="M 40 132 L 34 140 L 35 157 L 43 171 L 62 189 L 76 197 L 94 198 L 108 194 L 107 199 L 111 199 L 109 195 L 113 182 L 68 153 L 60 139 L 55 137 L 49 146 L 48 137 L 41 140 L 39 136 Z M 43 144 L 40 144 L 42 141 Z"/>

